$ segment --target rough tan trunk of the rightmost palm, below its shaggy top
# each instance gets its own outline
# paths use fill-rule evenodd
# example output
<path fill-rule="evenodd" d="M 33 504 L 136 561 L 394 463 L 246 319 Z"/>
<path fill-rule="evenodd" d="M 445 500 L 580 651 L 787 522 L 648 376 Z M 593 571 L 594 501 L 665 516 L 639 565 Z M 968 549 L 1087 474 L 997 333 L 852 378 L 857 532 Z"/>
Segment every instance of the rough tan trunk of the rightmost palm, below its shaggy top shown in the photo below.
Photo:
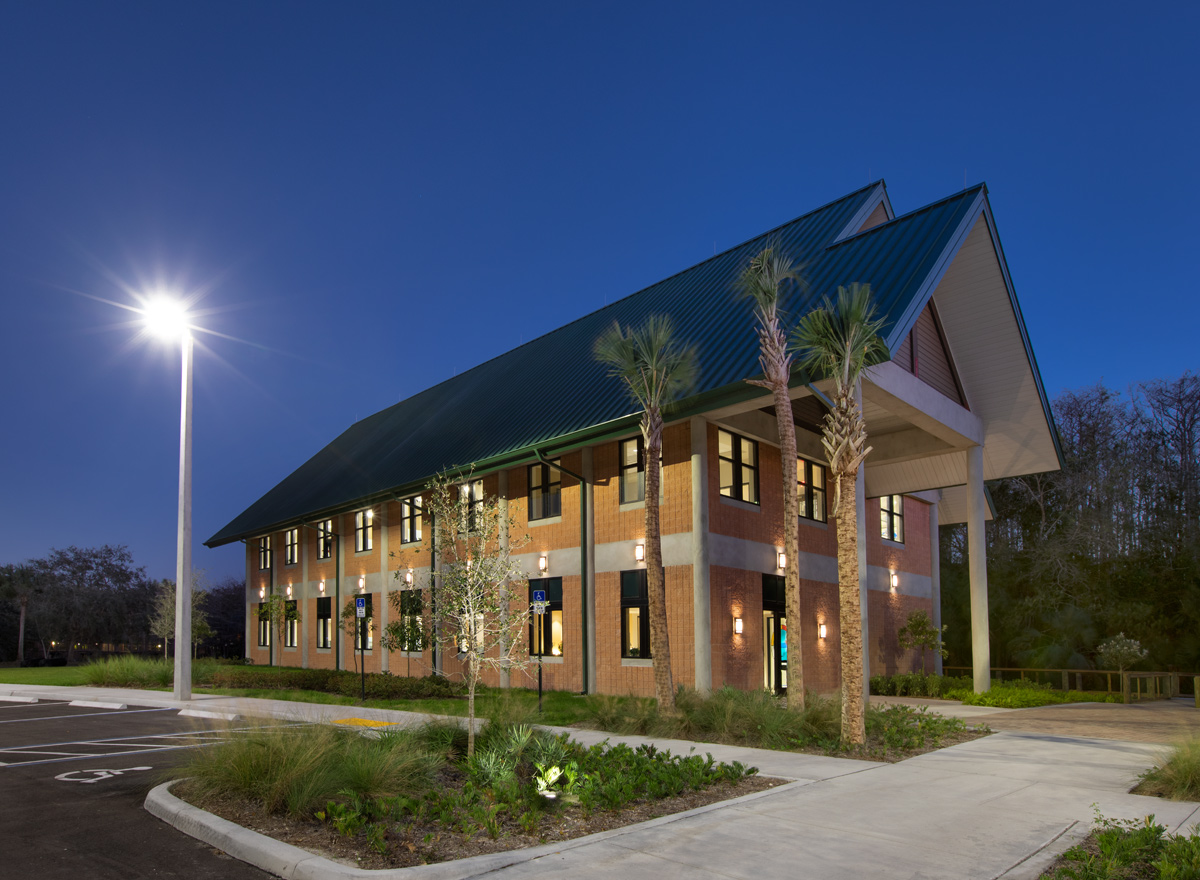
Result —
<path fill-rule="evenodd" d="M 838 510 L 838 605 L 841 643 L 841 740 L 852 746 L 866 741 L 863 714 L 863 609 L 859 597 L 858 469 L 838 474 L 841 503 Z"/>

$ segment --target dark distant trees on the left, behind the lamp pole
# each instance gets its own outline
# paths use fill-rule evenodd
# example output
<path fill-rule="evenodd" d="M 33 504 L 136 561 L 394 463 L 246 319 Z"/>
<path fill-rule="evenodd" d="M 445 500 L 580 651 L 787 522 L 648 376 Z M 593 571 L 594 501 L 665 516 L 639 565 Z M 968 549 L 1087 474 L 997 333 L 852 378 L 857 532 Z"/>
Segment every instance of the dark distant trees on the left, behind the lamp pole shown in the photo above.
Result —
<path fill-rule="evenodd" d="M 174 629 L 174 588 L 148 577 L 125 546 L 70 546 L 0 565 L 0 662 L 161 652 Z M 244 653 L 245 603 L 245 583 L 234 577 L 197 591 L 194 607 L 208 624 L 199 628 L 202 653 Z"/>

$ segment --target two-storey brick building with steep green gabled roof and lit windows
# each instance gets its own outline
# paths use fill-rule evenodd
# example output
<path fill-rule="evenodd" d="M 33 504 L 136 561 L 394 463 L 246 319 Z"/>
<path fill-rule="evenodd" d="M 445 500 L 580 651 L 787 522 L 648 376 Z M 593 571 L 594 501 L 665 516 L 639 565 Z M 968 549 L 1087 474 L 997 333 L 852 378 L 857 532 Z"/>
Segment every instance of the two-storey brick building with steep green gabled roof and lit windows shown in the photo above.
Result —
<path fill-rule="evenodd" d="M 910 669 L 896 630 L 914 609 L 940 619 L 937 529 L 967 522 L 977 676 L 988 666 L 984 480 L 1056 469 L 1061 454 L 983 185 L 896 217 L 882 181 L 733 247 L 366 418 L 256 501 L 206 544 L 246 544 L 247 645 L 257 663 L 352 668 L 338 609 L 385 598 L 430 570 L 419 496 L 473 466 L 472 491 L 509 499 L 533 543 L 530 591 L 551 601 L 542 634 L 551 688 L 653 693 L 646 657 L 640 413 L 592 357 L 614 321 L 670 315 L 695 343 L 700 381 L 667 413 L 662 545 L 672 665 L 697 688 L 786 687 L 786 642 L 809 688 L 839 684 L 834 525 L 820 444 L 822 405 L 797 377 L 803 615 L 785 621 L 781 465 L 750 309 L 733 293 L 768 243 L 805 265 L 786 312 L 839 285 L 870 283 L 893 358 L 863 382 L 874 451 L 860 471 L 862 589 L 869 672 Z M 816 389 L 820 390 L 821 383 Z M 546 570 L 540 570 L 545 558 Z M 397 574 L 400 576 L 397 577 Z M 298 621 L 270 646 L 257 603 L 284 592 Z M 415 612 L 415 607 L 409 607 Z M 455 658 L 392 653 L 368 637 L 368 671 L 452 672 Z M 520 678 L 521 674 L 515 674 Z M 528 683 L 514 680 L 514 684 Z M 978 682 L 977 677 L 977 682 Z M 986 682 L 986 672 L 984 672 Z"/>

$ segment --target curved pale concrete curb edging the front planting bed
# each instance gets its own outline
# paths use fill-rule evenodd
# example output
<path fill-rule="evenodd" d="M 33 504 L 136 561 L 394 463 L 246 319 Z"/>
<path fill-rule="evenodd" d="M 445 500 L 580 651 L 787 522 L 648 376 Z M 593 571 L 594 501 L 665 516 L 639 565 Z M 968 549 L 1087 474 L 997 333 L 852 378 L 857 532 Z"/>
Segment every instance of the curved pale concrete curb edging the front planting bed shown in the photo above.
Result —
<path fill-rule="evenodd" d="M 275 838 L 259 834 L 240 825 L 230 822 L 221 816 L 193 807 L 186 801 L 181 801 L 170 794 L 170 786 L 180 782 L 172 779 L 168 783 L 156 785 L 146 795 L 145 809 L 151 815 L 161 819 L 179 831 L 203 840 L 210 846 L 216 846 L 223 852 L 238 858 L 256 868 L 270 872 L 284 880 L 467 880 L 468 878 L 488 874 L 502 868 L 523 862 L 533 862 L 545 856 L 556 855 L 565 850 L 586 846 L 593 843 L 601 843 L 623 834 L 656 828 L 670 825 L 682 819 L 710 813 L 712 810 L 737 807 L 749 801 L 756 801 L 796 788 L 810 785 L 808 780 L 785 783 L 764 791 L 754 791 L 742 797 L 730 801 L 718 801 L 704 807 L 697 807 L 683 813 L 673 813 L 668 816 L 650 819 L 636 825 L 626 825 L 622 828 L 600 831 L 587 837 L 577 837 L 572 840 L 562 840 L 541 846 L 532 846 L 523 850 L 509 850 L 508 852 L 490 852 L 482 856 L 472 856 L 454 862 L 438 862 L 436 864 L 418 864 L 410 868 L 382 868 L 368 870 L 355 868 L 341 862 L 335 862 L 322 856 L 313 855 L 307 850 L 292 844 L 281 843 Z"/>

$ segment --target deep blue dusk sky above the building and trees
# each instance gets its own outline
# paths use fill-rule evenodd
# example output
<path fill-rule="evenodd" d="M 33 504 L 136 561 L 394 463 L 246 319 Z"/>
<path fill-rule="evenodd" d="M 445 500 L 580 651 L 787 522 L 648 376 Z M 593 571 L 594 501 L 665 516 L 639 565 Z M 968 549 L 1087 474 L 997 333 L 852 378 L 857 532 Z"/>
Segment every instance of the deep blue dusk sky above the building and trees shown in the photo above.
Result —
<path fill-rule="evenodd" d="M 1200 5 L 0 0 L 0 564 L 174 576 L 355 419 L 884 178 L 985 180 L 1051 397 L 1196 369 Z M 749 328 L 748 328 L 749 333 Z"/>

